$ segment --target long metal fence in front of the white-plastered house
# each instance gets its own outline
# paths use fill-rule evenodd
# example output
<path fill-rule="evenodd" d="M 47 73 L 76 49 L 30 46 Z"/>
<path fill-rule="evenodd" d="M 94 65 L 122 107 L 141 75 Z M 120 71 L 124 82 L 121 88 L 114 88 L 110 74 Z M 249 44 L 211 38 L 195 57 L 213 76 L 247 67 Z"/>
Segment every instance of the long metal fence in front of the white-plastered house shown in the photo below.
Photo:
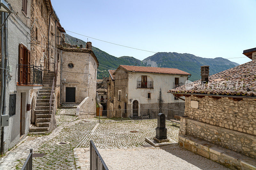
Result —
<path fill-rule="evenodd" d="M 119 109 L 119 110 L 102 110 L 100 111 L 100 123 L 119 122 L 143 119 L 156 119 L 159 113 L 166 116 L 166 120 L 174 119 L 174 115 L 183 116 L 184 111 L 165 109 L 165 108 L 140 108 L 140 109 Z"/>

